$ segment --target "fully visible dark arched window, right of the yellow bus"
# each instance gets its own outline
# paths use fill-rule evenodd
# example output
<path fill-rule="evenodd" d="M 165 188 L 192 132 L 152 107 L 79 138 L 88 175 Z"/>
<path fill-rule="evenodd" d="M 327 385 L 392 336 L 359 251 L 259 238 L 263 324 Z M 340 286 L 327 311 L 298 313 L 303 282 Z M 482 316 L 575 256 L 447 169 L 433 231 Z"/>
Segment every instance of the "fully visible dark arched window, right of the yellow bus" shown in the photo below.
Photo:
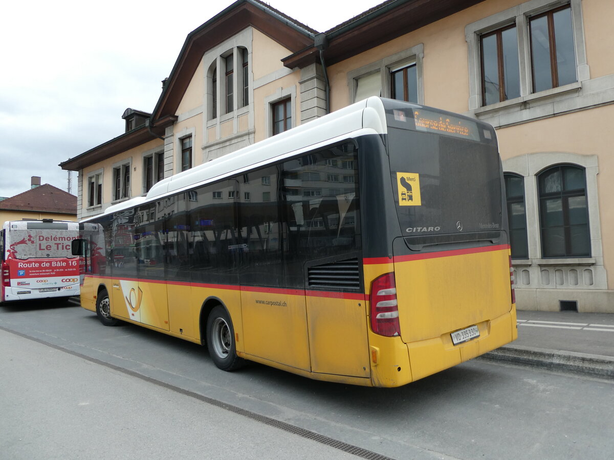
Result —
<path fill-rule="evenodd" d="M 543 258 L 591 255 L 583 167 L 561 164 L 537 175 Z"/>

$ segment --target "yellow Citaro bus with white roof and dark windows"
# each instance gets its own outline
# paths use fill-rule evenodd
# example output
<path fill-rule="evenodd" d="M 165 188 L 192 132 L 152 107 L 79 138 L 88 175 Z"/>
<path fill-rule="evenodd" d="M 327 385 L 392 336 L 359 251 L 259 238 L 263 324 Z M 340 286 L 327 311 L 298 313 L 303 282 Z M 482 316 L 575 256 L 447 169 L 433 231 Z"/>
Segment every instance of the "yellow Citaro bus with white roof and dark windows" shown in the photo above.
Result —
<path fill-rule="evenodd" d="M 494 129 L 369 98 L 81 223 L 81 304 L 317 380 L 400 386 L 516 339 Z"/>

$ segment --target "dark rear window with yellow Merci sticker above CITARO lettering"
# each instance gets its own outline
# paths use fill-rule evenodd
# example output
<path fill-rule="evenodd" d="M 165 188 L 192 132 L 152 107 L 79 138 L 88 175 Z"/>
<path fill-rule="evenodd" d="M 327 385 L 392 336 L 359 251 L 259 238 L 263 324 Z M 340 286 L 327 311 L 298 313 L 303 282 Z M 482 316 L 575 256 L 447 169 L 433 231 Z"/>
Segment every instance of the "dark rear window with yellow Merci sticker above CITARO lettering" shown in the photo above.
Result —
<path fill-rule="evenodd" d="M 389 128 L 392 183 L 405 236 L 499 231 L 499 153 L 492 144 Z"/>

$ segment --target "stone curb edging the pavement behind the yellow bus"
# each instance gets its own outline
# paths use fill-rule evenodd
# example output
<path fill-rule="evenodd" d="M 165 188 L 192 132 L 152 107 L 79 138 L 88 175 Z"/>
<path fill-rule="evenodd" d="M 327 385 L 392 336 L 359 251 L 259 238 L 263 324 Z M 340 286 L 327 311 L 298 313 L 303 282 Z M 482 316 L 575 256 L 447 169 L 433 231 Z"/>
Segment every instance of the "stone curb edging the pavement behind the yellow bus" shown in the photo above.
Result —
<path fill-rule="evenodd" d="M 507 361 L 548 370 L 591 375 L 614 380 L 614 357 L 574 351 L 504 345 L 480 356 L 488 361 Z"/>

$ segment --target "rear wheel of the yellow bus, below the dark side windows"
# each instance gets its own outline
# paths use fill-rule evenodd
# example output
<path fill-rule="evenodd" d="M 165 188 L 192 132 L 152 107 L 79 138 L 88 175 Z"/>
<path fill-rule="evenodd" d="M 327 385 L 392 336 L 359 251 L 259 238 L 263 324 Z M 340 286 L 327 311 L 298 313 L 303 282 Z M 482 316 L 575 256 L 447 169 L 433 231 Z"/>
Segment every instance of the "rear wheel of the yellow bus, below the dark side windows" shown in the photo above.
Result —
<path fill-rule="evenodd" d="M 209 355 L 219 369 L 235 370 L 244 365 L 236 355 L 235 329 L 230 315 L 222 305 L 217 305 L 207 319 L 207 347 Z"/>

